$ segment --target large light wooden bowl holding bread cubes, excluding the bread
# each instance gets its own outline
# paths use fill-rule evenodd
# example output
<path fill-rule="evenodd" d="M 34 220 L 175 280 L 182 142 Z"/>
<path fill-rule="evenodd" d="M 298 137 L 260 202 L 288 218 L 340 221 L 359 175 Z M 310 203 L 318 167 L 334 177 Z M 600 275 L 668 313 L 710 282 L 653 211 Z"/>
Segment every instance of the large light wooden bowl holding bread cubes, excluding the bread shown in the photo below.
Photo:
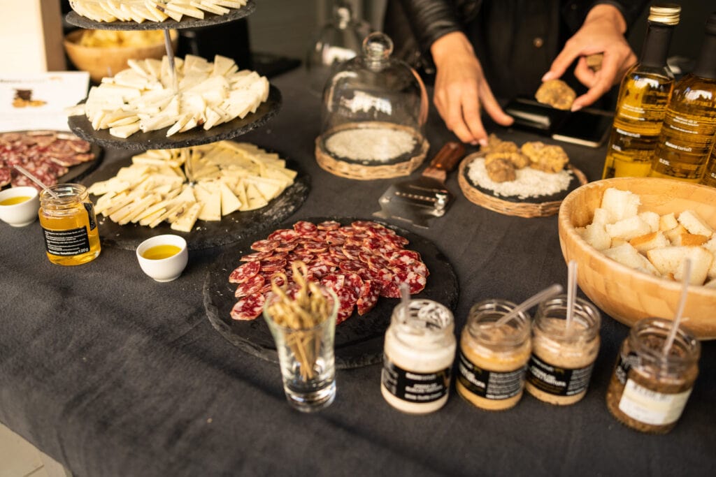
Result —
<path fill-rule="evenodd" d="M 605 257 L 575 231 L 591 222 L 594 209 L 609 187 L 639 195 L 639 212 L 657 214 L 694 210 L 716 228 L 716 189 L 670 179 L 616 177 L 583 185 L 563 200 L 559 209 L 559 242 L 564 260 L 578 263 L 577 282 L 584 294 L 604 313 L 624 325 L 642 318 L 671 320 L 676 313 L 681 284 L 632 270 Z M 716 289 L 689 287 L 682 323 L 701 340 L 716 339 Z"/>

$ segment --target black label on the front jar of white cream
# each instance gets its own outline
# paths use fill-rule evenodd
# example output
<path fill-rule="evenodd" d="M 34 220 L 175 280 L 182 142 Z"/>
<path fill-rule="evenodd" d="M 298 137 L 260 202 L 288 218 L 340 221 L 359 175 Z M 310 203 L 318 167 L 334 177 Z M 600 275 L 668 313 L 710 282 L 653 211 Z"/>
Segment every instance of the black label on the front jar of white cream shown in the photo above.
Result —
<path fill-rule="evenodd" d="M 450 368 L 435 373 L 415 373 L 396 366 L 383 355 L 381 380 L 396 398 L 409 403 L 432 403 L 448 395 Z"/>

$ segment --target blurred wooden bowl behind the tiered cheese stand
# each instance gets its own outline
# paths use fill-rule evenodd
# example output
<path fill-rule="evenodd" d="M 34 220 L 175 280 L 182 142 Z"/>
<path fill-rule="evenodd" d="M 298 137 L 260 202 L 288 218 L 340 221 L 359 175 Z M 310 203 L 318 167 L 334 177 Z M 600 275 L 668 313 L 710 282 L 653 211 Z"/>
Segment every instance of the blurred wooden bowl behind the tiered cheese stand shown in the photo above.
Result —
<path fill-rule="evenodd" d="M 94 82 L 101 82 L 104 77 L 111 77 L 127 69 L 127 59 L 162 59 L 167 54 L 164 40 L 146 46 L 82 46 L 79 39 L 83 29 L 70 31 L 64 37 L 64 51 L 77 69 L 89 72 Z M 176 51 L 179 41 L 177 31 L 170 31 L 172 49 Z"/>

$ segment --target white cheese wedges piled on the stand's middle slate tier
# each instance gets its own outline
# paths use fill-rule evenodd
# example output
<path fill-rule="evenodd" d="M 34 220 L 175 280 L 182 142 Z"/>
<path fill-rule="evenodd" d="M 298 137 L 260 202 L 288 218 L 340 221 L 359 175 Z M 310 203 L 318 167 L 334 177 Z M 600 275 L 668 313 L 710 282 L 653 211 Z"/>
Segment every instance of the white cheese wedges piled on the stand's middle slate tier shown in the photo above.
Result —
<path fill-rule="evenodd" d="M 216 55 L 213 63 L 194 55 L 175 58 L 174 74 L 168 56 L 130 59 L 127 64 L 129 68 L 89 89 L 87 101 L 69 115 L 84 114 L 92 128 L 109 129 L 115 137 L 167 127 L 169 137 L 243 119 L 269 97 L 266 77 L 239 71 L 226 56 Z"/>

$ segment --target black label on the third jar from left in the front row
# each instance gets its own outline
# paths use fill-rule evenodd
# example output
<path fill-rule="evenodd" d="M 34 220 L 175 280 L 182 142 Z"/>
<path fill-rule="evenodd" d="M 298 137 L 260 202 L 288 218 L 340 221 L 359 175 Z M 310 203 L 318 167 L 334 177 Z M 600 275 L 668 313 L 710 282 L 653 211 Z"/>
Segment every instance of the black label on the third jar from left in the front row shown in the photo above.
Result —
<path fill-rule="evenodd" d="M 545 393 L 558 396 L 571 396 L 582 393 L 589 386 L 594 362 L 585 368 L 560 368 L 545 363 L 536 355 L 531 355 L 527 365 L 527 381 Z"/>

